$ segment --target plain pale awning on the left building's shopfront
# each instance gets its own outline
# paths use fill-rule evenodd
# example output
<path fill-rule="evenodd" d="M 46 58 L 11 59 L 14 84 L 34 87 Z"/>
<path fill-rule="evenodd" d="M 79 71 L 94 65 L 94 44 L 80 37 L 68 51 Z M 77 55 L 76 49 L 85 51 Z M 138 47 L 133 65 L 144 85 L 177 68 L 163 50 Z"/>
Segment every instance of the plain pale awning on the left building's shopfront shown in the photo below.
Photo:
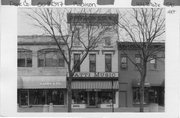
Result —
<path fill-rule="evenodd" d="M 66 88 L 66 76 L 23 76 L 21 78 L 23 89 Z"/>

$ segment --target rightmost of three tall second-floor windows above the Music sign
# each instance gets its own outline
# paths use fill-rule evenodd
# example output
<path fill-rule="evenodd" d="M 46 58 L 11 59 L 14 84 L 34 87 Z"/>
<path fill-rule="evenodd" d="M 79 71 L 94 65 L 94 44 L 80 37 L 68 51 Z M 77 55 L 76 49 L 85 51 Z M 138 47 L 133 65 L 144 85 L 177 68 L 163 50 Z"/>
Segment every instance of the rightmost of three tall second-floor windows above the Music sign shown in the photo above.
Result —
<path fill-rule="evenodd" d="M 105 54 L 105 72 L 112 71 L 112 55 Z"/>

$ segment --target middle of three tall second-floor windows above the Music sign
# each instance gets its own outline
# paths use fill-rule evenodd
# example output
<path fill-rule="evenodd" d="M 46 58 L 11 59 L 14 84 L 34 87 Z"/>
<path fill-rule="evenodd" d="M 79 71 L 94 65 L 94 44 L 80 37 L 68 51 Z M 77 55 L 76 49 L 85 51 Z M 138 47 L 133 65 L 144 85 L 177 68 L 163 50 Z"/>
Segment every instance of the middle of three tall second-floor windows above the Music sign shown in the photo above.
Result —
<path fill-rule="evenodd" d="M 89 72 L 96 72 L 96 54 L 89 55 Z"/>

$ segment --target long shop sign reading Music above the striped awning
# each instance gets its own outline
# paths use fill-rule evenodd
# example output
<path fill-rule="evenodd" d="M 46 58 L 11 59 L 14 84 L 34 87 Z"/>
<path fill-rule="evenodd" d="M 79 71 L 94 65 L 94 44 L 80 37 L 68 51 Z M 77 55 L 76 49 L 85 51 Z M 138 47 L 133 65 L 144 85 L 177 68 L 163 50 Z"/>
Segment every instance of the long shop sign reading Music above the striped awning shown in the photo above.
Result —
<path fill-rule="evenodd" d="M 73 77 L 118 77 L 117 72 L 76 72 Z"/>

